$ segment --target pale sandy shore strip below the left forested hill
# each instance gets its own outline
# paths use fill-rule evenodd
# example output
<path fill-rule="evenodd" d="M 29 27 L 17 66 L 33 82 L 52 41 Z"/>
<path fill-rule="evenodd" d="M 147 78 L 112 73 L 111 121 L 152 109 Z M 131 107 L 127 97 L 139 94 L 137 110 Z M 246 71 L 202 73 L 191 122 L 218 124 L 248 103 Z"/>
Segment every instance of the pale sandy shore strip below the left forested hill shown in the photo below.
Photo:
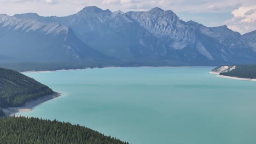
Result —
<path fill-rule="evenodd" d="M 19 112 L 27 112 L 27 111 L 32 111 L 34 107 L 43 104 L 45 101 L 60 97 L 61 93 L 54 92 L 53 94 L 50 95 L 45 95 L 42 98 L 38 98 L 37 100 L 33 101 L 28 101 L 25 106 L 21 107 L 8 107 L 7 109 L 3 109 L 3 112 L 8 115 L 8 116 L 14 116 L 15 113 Z"/>

